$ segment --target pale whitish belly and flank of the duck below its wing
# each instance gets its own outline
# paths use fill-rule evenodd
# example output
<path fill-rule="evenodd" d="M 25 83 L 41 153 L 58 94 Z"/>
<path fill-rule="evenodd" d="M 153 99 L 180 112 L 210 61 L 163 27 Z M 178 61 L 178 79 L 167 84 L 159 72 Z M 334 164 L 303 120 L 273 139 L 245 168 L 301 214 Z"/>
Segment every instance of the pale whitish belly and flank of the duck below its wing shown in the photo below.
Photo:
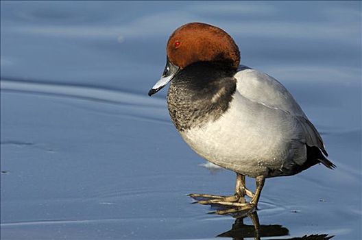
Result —
<path fill-rule="evenodd" d="M 230 109 L 216 121 L 180 134 L 211 163 L 250 177 L 276 174 L 289 158 L 289 146 L 278 124 L 241 112 Z"/>

